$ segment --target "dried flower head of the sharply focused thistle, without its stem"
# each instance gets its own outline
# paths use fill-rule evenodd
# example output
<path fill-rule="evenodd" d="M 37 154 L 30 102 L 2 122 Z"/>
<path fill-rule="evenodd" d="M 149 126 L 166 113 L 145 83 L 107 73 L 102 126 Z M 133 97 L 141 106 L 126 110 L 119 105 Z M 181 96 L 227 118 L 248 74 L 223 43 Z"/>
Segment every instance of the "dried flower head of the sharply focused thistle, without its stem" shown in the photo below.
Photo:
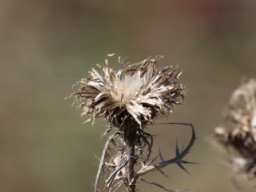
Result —
<path fill-rule="evenodd" d="M 101 67 L 103 76 L 92 68 L 89 76 L 77 83 L 79 91 L 73 93 L 82 100 L 82 115 L 90 115 L 87 121 L 105 117 L 111 127 L 143 129 L 157 116 L 172 112 L 175 104 L 182 103 L 184 86 L 178 81 L 182 71 L 157 68 L 162 56 L 133 64 L 119 61 L 119 70 L 109 67 L 109 56 L 113 54 Z"/>

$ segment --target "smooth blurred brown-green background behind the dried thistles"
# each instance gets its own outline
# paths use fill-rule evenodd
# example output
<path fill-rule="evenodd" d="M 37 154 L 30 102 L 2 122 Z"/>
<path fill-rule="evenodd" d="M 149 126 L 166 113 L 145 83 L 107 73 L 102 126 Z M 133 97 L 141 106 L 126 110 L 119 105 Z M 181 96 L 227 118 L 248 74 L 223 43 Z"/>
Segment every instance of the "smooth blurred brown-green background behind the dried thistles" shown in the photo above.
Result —
<path fill-rule="evenodd" d="M 161 54 L 159 67 L 184 70 L 186 104 L 165 122 L 193 123 L 199 138 L 186 160 L 204 164 L 186 165 L 193 177 L 173 165 L 164 170 L 169 179 L 146 178 L 170 189 L 236 191 L 225 155 L 208 141 L 241 79 L 256 76 L 255 18 L 249 0 L 1 0 L 0 191 L 93 191 L 104 123 L 82 124 L 81 109 L 64 98 L 113 52 L 113 67 L 118 56 L 136 62 Z M 165 158 L 175 155 L 176 138 L 182 146 L 191 136 L 180 125 L 148 132 Z M 138 189 L 163 191 L 143 182 Z"/>

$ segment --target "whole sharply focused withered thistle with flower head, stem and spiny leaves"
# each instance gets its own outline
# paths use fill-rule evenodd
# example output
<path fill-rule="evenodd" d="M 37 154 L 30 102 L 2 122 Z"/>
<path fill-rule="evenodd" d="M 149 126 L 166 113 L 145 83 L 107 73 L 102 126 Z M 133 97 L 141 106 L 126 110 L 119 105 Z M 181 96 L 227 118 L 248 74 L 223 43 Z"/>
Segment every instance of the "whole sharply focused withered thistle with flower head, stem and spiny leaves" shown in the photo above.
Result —
<path fill-rule="evenodd" d="M 145 128 L 152 125 L 158 117 L 166 117 L 175 105 L 184 100 L 184 86 L 179 83 L 181 70 L 165 67 L 156 68 L 156 63 L 163 56 L 147 58 L 139 63 L 124 63 L 119 58 L 120 68 L 109 67 L 109 54 L 103 65 L 103 75 L 94 68 L 89 76 L 77 82 L 79 90 L 72 95 L 82 115 L 90 115 L 86 121 L 94 122 L 96 118 L 106 119 L 108 126 L 104 135 L 112 134 L 100 159 L 99 170 L 95 180 L 95 192 L 98 189 L 100 174 L 104 175 L 107 191 L 115 191 L 124 184 L 126 191 L 135 191 L 139 180 L 164 188 L 156 182 L 143 179 L 149 172 L 159 171 L 168 164 L 182 164 L 195 141 L 195 131 L 191 124 L 192 136 L 187 147 L 179 150 L 176 156 L 163 159 L 159 156 L 151 159 L 153 136 Z M 157 163 L 154 163 L 157 161 Z M 138 166 L 135 171 L 134 166 Z M 164 173 L 163 173 L 164 174 Z M 175 190 L 180 191 L 180 190 Z"/>

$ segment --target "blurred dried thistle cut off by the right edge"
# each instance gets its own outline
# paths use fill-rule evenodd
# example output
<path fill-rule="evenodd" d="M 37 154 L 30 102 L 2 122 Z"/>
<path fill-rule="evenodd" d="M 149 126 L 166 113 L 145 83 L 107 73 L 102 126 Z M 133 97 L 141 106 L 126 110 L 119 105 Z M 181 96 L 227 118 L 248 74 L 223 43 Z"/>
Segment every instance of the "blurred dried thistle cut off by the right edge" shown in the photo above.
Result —
<path fill-rule="evenodd" d="M 250 79 L 232 93 L 225 109 L 223 122 L 215 136 L 227 149 L 236 173 L 246 176 L 256 186 L 256 81 Z M 229 148 L 238 154 L 230 153 Z"/>

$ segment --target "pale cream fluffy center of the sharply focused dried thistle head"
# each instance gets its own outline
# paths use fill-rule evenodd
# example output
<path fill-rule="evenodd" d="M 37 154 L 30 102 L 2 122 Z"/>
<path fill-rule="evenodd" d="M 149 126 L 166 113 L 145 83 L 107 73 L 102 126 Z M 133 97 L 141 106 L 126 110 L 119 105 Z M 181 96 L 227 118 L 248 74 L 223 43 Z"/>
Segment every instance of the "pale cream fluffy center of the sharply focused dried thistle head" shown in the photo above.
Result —
<path fill-rule="evenodd" d="M 111 95 L 121 104 L 127 104 L 142 85 L 143 80 L 140 77 L 125 76 L 124 79 L 115 84 Z"/>

